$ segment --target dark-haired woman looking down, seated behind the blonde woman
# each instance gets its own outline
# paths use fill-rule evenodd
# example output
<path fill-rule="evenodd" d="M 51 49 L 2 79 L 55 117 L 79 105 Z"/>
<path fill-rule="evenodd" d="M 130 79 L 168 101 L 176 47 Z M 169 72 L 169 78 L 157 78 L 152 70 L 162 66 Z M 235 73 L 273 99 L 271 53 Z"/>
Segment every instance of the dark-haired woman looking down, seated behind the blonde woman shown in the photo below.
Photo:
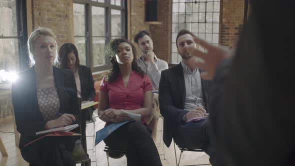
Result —
<path fill-rule="evenodd" d="M 90 68 L 79 64 L 78 50 L 74 44 L 68 42 L 61 45 L 59 49 L 60 68 L 70 69 L 74 75 L 77 86 L 79 105 L 86 101 L 93 101 L 95 96 L 94 82 Z M 81 120 L 89 120 L 93 108 L 88 107 L 81 112 Z M 86 149 L 86 123 L 81 122 L 83 146 Z"/>

